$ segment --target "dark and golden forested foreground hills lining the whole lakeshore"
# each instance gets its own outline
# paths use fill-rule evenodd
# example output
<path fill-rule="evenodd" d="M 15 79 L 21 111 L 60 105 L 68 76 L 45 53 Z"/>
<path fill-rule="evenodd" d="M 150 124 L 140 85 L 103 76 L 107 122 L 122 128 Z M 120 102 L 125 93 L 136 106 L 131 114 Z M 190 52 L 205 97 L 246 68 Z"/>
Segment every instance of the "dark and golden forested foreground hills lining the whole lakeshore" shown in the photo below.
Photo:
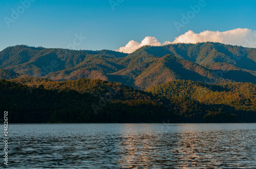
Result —
<path fill-rule="evenodd" d="M 100 79 L 1 80 L 10 123 L 256 122 L 256 85 L 174 80 L 146 91 Z"/>

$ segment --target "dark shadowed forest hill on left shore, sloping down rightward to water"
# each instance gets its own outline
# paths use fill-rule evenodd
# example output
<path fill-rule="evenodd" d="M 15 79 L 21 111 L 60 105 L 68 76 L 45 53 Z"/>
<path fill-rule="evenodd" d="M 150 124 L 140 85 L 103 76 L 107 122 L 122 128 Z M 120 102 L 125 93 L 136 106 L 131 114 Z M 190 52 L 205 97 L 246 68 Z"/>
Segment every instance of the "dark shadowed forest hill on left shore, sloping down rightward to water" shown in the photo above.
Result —
<path fill-rule="evenodd" d="M 75 85 L 72 83 L 74 81 L 69 82 Z M 174 112 L 168 110 L 167 106 L 147 98 L 150 93 L 143 94 L 145 92 L 141 91 L 140 94 L 125 86 L 108 88 L 105 81 L 100 82 L 98 88 L 91 88 L 91 92 L 87 93 L 65 86 L 45 89 L 45 81 L 41 81 L 38 86 L 28 87 L 0 80 L 1 111 L 8 111 L 9 123 L 161 123 L 166 118 L 178 122 Z M 90 86 L 90 83 L 93 85 L 94 81 L 89 80 L 86 86 Z M 106 93 L 96 91 L 103 88 Z M 111 94 L 109 90 L 112 89 L 114 94 L 116 90 L 120 92 L 113 94 L 110 100 L 99 98 L 98 94 L 104 98 Z"/>

